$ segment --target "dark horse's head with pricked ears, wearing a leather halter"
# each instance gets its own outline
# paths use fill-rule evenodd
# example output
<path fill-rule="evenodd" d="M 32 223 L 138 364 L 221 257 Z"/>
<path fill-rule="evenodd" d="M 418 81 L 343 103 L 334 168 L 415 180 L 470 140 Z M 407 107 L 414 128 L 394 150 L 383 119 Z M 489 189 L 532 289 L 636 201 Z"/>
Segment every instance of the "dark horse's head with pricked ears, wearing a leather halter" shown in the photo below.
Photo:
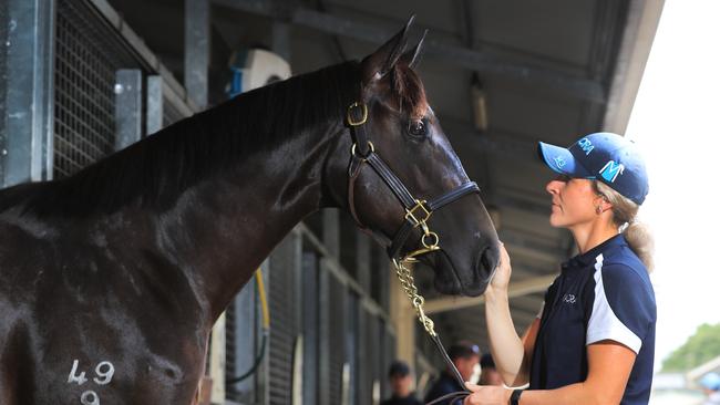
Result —
<path fill-rule="evenodd" d="M 439 291 L 477 295 L 497 266 L 497 233 L 414 71 L 424 35 L 405 50 L 411 23 L 360 63 L 347 208 L 390 241 L 392 259 L 432 267 Z"/>

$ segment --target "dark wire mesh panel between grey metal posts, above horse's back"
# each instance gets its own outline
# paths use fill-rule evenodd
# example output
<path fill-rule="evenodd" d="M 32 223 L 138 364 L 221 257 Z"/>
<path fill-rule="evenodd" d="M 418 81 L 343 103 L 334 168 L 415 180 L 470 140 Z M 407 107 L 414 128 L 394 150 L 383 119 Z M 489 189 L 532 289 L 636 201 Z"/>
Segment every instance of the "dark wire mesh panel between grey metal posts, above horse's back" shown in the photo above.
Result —
<path fill-rule="evenodd" d="M 85 1 L 58 1 L 55 178 L 113 152 L 115 71 L 141 68 L 119 34 L 91 7 Z"/>

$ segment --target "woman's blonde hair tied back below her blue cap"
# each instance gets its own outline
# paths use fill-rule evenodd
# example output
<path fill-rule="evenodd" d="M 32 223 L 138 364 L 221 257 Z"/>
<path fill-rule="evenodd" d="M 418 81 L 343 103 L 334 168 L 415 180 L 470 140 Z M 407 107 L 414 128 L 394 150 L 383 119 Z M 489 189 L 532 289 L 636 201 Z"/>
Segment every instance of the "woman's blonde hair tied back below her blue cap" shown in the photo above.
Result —
<path fill-rule="evenodd" d="M 655 268 L 655 261 L 652 260 L 655 239 L 649 227 L 635 219 L 640 206 L 601 181 L 593 181 L 593 188 L 595 193 L 603 196 L 613 206 L 613 221 L 618 227 L 618 230 L 625 235 L 630 249 L 642 261 L 648 272 L 652 272 Z"/>

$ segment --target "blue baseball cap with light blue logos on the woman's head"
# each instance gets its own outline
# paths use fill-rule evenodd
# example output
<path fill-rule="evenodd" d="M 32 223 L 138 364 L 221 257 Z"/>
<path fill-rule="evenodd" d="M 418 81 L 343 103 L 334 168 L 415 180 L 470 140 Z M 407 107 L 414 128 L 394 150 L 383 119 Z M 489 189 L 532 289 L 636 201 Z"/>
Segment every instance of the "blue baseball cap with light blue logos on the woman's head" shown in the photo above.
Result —
<path fill-rule="evenodd" d="M 553 170 L 596 179 L 637 205 L 648 195 L 645 162 L 635 143 L 609 132 L 584 136 L 568 147 L 538 143 L 538 154 Z"/>

